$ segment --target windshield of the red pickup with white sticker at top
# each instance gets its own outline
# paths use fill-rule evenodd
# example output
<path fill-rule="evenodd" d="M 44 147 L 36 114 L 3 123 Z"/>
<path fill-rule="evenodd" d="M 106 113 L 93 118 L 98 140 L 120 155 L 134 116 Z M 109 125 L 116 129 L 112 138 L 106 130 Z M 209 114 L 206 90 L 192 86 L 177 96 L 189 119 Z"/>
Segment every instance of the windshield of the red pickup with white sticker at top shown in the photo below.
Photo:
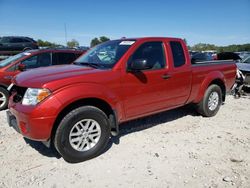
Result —
<path fill-rule="evenodd" d="M 113 40 L 99 44 L 78 58 L 75 64 L 112 68 L 134 43 L 135 40 Z"/>

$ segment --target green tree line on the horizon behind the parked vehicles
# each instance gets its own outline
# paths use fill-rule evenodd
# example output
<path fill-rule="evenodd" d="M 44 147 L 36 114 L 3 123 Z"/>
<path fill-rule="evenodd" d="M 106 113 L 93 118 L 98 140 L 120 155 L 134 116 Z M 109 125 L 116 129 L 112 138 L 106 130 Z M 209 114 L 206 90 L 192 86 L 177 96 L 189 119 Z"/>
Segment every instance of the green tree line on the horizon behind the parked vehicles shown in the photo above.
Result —
<path fill-rule="evenodd" d="M 106 36 L 101 36 L 99 38 L 93 38 L 90 42 L 90 47 L 93 47 L 97 44 L 109 41 L 110 38 Z M 187 44 L 187 40 L 184 39 L 185 43 Z M 37 43 L 41 47 L 60 47 L 61 44 L 44 41 L 41 39 L 37 40 Z M 69 48 L 76 48 L 79 47 L 79 42 L 76 39 L 72 39 L 67 42 L 67 47 Z M 193 46 L 188 46 L 189 50 L 193 51 L 207 51 L 207 50 L 216 50 L 217 52 L 239 52 L 239 51 L 250 51 L 250 43 L 247 44 L 232 44 L 228 46 L 216 46 L 214 44 L 207 44 L 207 43 L 199 43 Z"/>

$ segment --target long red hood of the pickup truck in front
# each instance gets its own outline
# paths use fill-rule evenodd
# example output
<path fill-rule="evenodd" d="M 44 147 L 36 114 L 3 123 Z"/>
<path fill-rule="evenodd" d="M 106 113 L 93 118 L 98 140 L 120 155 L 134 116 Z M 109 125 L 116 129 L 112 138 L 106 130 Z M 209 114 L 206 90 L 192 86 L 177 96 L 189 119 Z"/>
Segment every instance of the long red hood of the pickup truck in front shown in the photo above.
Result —
<path fill-rule="evenodd" d="M 82 77 L 85 77 L 84 81 L 88 81 L 87 75 L 96 75 L 96 73 L 104 71 L 108 70 L 81 65 L 58 65 L 22 72 L 13 79 L 13 82 L 21 87 L 42 88 L 49 86 L 51 87 L 49 89 L 55 90 L 67 84 L 82 82 Z"/>

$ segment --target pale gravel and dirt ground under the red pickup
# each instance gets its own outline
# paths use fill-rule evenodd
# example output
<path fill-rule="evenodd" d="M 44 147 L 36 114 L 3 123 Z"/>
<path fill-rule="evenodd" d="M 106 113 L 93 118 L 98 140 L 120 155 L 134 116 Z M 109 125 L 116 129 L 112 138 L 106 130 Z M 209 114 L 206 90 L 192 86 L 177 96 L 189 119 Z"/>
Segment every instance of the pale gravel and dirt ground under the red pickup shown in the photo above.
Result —
<path fill-rule="evenodd" d="M 107 151 L 69 164 L 0 112 L 0 187 L 250 187 L 250 97 L 213 118 L 190 107 L 122 125 Z"/>

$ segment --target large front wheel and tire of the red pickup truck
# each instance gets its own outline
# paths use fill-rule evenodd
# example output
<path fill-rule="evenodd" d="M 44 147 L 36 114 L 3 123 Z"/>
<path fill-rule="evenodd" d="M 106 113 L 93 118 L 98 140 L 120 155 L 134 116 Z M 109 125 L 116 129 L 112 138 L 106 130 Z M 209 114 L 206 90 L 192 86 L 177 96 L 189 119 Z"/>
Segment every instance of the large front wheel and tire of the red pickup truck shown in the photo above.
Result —
<path fill-rule="evenodd" d="M 96 107 L 83 106 L 62 119 L 55 133 L 54 145 L 65 161 L 77 163 L 100 155 L 109 138 L 110 125 L 106 114 Z"/>

